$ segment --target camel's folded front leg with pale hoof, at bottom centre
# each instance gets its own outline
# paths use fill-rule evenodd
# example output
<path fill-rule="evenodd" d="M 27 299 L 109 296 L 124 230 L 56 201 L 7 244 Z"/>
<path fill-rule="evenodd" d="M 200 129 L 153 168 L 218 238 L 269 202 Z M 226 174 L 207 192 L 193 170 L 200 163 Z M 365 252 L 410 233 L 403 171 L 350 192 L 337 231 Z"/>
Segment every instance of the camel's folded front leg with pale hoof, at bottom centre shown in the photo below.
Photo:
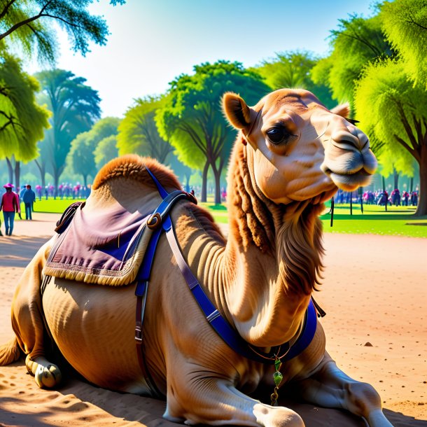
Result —
<path fill-rule="evenodd" d="M 188 367 L 180 366 L 168 377 L 165 419 L 188 425 L 304 427 L 292 409 L 249 398 L 232 381 L 206 367 Z"/>

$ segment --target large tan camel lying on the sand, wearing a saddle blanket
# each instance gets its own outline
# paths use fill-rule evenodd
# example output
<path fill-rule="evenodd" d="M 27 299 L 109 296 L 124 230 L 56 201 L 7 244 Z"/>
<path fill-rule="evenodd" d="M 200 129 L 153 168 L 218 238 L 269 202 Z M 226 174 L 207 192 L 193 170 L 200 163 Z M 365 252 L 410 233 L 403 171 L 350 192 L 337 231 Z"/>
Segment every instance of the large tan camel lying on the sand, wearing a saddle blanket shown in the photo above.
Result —
<path fill-rule="evenodd" d="M 391 426 L 377 391 L 339 370 L 325 350 L 311 302 L 323 269 L 318 215 L 337 188 L 369 182 L 377 161 L 367 136 L 346 119 L 348 106 L 328 110 L 306 90 L 276 90 L 253 107 L 227 93 L 223 111 L 238 130 L 228 172 L 228 239 L 205 209 L 179 191 L 167 167 L 137 155 L 109 162 L 84 207 L 76 207 L 65 231 L 25 269 L 13 299 L 15 337 L 0 348 L 0 365 L 24 353 L 37 384 L 56 386 L 62 374 L 48 358 L 48 332 L 87 381 L 164 396 L 170 421 L 304 426 L 296 412 L 276 405 L 286 384 L 314 405 L 347 409 L 370 427 Z M 164 217 L 151 215 L 165 198 L 159 188 L 183 195 Z M 166 236 L 155 228 L 161 221 L 170 221 Z M 141 306 L 138 274 L 155 230 Z M 137 249 L 122 276 L 83 261 L 56 271 L 59 255 L 66 257 L 58 241 L 67 235 L 74 236 L 71 244 L 94 235 L 101 246 L 117 242 L 120 248 L 124 239 Z M 97 244 L 92 241 L 91 250 Z M 55 261 L 52 253 L 58 252 Z M 214 307 L 211 314 L 201 309 L 195 290 Z M 232 339 L 214 330 L 216 320 Z M 271 387 L 271 402 L 249 397 L 261 384 Z"/>

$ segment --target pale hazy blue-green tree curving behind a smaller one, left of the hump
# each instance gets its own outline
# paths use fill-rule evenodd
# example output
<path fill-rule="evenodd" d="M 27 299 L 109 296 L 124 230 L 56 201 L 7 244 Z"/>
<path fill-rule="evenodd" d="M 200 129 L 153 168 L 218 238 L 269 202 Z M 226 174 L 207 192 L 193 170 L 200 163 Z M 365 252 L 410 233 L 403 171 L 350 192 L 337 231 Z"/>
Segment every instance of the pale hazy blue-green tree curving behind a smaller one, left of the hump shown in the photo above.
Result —
<path fill-rule="evenodd" d="M 106 117 L 94 124 L 88 132 L 78 134 L 71 142 L 71 149 L 67 162 L 73 172 L 83 176 L 83 182 L 87 186 L 87 176 L 94 178 L 97 173 L 95 151 L 102 141 L 110 137 L 116 138 L 120 119 Z M 117 150 L 116 150 L 117 152 Z"/>

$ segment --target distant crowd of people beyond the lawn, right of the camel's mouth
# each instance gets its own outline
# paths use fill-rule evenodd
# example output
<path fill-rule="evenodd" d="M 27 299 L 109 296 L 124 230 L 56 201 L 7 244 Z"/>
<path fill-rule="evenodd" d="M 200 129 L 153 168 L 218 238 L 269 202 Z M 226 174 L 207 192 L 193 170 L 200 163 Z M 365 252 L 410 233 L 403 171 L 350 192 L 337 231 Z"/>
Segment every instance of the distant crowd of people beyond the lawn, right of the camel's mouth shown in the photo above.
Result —
<path fill-rule="evenodd" d="M 335 196 L 336 203 L 350 203 L 350 200 L 353 201 L 354 194 L 348 193 L 342 190 L 338 190 L 337 195 Z M 370 191 L 367 190 L 361 196 L 364 204 L 377 204 L 378 206 L 416 206 L 418 204 L 418 191 L 402 191 L 398 188 L 395 188 L 388 194 L 387 190 L 377 190 Z M 357 193 L 357 202 L 360 202 L 360 195 Z"/>

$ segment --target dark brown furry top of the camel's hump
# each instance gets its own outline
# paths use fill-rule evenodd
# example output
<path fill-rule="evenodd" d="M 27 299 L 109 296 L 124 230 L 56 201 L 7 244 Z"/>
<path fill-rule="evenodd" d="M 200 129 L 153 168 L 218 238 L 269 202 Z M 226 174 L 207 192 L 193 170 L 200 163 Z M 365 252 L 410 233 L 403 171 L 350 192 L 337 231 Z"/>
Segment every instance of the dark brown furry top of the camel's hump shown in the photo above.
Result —
<path fill-rule="evenodd" d="M 109 181 L 125 178 L 137 181 L 146 186 L 155 188 L 155 183 L 146 169 L 150 169 L 160 184 L 167 190 L 179 190 L 181 184 L 169 167 L 166 167 L 153 158 L 141 157 L 136 154 L 127 154 L 111 160 L 99 170 L 94 179 L 93 190 L 97 190 Z"/>

